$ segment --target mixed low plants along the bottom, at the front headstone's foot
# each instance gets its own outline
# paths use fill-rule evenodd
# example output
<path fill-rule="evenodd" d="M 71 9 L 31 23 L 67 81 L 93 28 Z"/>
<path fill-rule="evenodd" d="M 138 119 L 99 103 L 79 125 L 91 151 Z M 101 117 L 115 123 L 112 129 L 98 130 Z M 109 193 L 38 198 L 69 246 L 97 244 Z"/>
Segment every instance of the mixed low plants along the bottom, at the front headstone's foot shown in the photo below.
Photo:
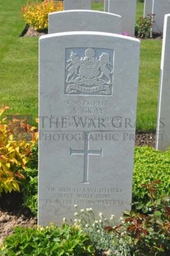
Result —
<path fill-rule="evenodd" d="M 109 255 L 109 256 L 168 256 L 170 252 L 170 206 L 158 209 L 154 193 L 153 214 L 126 211 L 116 224 L 114 216 L 106 220 L 102 213 L 96 218 L 92 208 L 74 213 L 72 225 L 61 228 L 17 227 L 0 249 L 2 256 L 15 255 Z"/>

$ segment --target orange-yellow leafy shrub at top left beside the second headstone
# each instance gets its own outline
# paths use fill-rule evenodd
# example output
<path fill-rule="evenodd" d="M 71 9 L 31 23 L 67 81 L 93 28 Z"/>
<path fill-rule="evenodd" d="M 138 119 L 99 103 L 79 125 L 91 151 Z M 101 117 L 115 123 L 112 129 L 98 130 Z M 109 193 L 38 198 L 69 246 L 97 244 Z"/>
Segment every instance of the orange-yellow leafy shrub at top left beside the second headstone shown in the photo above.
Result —
<path fill-rule="evenodd" d="M 48 15 L 50 12 L 63 11 L 63 2 L 44 0 L 43 2 L 27 2 L 21 8 L 21 14 L 26 24 L 33 26 L 36 31 L 48 28 Z"/>

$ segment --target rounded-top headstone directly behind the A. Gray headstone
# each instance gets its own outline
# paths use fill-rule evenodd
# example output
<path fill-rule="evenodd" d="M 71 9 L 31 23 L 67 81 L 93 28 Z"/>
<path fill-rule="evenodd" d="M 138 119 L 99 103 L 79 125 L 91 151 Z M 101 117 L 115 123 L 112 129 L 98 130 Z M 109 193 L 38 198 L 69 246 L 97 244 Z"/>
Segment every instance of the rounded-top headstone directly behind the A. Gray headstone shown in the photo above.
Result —
<path fill-rule="evenodd" d="M 74 10 L 52 12 L 49 15 L 49 34 L 66 31 L 101 31 L 120 34 L 120 28 L 121 17 L 112 13 Z"/>

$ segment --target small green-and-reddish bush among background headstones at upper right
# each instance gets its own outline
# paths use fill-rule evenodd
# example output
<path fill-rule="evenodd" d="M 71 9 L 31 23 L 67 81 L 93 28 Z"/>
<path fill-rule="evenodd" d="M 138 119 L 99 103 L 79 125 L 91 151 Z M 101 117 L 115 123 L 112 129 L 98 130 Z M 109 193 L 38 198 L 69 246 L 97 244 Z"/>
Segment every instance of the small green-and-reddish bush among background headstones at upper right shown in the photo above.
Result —
<path fill-rule="evenodd" d="M 139 38 L 149 38 L 150 31 L 153 25 L 153 14 L 149 14 L 148 17 L 139 17 L 135 23 L 135 36 Z"/>

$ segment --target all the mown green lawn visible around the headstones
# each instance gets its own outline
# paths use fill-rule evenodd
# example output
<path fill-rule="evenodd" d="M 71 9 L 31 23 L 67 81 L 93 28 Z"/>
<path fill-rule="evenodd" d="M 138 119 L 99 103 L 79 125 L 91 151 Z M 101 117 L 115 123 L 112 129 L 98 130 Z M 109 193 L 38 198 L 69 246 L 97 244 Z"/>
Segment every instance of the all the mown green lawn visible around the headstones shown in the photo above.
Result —
<path fill-rule="evenodd" d="M 32 115 L 35 119 L 38 116 L 39 39 L 19 37 L 26 26 L 20 13 L 26 2 L 0 0 L 0 105 L 10 107 L 12 114 Z M 142 16 L 143 8 L 144 3 L 138 2 L 136 18 Z M 102 11 L 103 4 L 93 2 L 92 9 Z M 141 40 L 138 130 L 156 128 L 161 46 L 161 40 Z"/>

